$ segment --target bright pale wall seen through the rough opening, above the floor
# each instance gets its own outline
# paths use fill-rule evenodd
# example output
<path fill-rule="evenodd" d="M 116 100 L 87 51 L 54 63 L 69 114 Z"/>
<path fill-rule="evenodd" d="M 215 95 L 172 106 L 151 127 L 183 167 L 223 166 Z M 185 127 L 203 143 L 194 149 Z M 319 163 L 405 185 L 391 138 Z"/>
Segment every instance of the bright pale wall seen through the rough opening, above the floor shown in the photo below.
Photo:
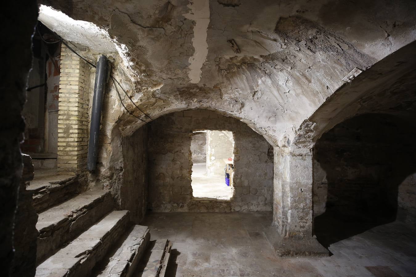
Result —
<path fill-rule="evenodd" d="M 207 174 L 223 175 L 223 159 L 234 156 L 233 133 L 228 131 L 207 131 Z"/>

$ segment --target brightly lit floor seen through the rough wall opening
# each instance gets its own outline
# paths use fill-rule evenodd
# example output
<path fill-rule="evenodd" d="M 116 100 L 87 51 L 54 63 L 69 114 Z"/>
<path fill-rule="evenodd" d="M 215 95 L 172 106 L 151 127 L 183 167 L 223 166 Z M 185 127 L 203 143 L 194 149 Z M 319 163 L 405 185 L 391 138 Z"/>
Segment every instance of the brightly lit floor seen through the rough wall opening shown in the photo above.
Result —
<path fill-rule="evenodd" d="M 225 177 L 206 174 L 206 163 L 195 163 L 192 166 L 192 190 L 194 197 L 230 199 L 233 196 L 231 186 L 225 185 Z"/>

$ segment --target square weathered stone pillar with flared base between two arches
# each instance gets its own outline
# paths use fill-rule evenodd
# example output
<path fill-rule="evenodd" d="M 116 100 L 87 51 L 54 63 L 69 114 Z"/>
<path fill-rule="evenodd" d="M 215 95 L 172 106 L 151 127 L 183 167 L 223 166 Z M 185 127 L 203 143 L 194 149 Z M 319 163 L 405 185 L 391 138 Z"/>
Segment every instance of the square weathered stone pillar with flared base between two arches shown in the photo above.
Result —
<path fill-rule="evenodd" d="M 312 149 L 275 148 L 274 247 L 280 255 L 328 255 L 312 235 Z"/>

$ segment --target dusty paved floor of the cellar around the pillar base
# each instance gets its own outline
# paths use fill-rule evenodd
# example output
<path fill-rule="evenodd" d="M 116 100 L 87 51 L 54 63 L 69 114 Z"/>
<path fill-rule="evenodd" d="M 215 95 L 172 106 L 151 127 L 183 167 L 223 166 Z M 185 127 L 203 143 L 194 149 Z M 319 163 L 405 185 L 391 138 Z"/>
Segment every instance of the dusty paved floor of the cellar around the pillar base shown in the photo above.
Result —
<path fill-rule="evenodd" d="M 150 213 L 151 240 L 173 241 L 167 276 L 416 276 L 414 229 L 393 222 L 333 242 L 330 257 L 277 257 L 272 213 Z"/>

